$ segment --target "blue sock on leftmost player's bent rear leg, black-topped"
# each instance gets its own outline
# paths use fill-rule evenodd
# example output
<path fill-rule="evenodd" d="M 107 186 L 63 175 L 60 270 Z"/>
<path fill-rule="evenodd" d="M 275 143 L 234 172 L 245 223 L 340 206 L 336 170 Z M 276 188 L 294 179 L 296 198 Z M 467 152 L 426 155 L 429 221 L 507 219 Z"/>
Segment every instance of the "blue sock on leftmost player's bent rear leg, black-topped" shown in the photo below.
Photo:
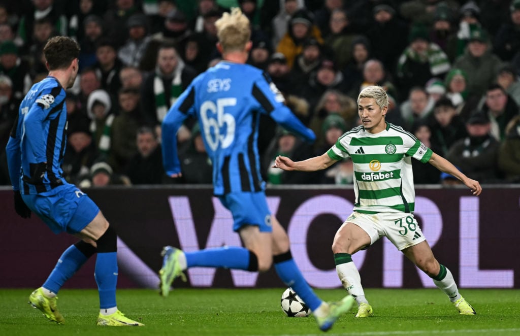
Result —
<path fill-rule="evenodd" d="M 63 252 L 58 263 L 43 284 L 43 288 L 58 294 L 61 286 L 87 261 L 87 257 L 74 245 Z"/>

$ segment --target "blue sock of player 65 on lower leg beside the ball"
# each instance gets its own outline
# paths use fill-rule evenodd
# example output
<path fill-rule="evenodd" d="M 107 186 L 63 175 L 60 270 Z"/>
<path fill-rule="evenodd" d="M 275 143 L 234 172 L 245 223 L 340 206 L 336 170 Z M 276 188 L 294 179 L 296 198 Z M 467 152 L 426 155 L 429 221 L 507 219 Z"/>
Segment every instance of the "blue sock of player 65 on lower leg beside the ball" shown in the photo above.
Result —
<path fill-rule="evenodd" d="M 275 262 L 276 273 L 282 279 L 285 285 L 292 287 L 292 289 L 305 301 L 305 304 L 311 311 L 315 311 L 322 303 L 321 299 L 310 288 L 307 281 L 303 277 L 300 269 L 292 259 L 291 251 L 284 254 L 275 255 L 273 257 Z"/>

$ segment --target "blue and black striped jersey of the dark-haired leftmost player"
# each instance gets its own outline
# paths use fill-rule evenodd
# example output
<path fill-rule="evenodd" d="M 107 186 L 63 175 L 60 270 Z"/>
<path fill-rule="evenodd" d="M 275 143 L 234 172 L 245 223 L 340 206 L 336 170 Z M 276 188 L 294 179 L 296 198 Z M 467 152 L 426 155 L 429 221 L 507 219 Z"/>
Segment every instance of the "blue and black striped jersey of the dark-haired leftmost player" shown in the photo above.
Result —
<path fill-rule="evenodd" d="M 48 76 L 23 98 L 6 147 L 14 190 L 34 195 L 65 183 L 61 170 L 67 141 L 65 96 L 58 80 Z M 43 183 L 28 183 L 31 165 L 41 162 L 47 162 Z"/>

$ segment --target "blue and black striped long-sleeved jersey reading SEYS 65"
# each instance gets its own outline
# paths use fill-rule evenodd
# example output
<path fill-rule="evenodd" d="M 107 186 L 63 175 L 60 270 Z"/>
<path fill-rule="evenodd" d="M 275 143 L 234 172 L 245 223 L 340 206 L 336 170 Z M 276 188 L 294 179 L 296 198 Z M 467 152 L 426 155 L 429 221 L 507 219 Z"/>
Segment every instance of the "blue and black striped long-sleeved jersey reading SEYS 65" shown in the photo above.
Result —
<path fill-rule="evenodd" d="M 257 149 L 259 113 L 267 113 L 307 141 L 316 138 L 283 102 L 262 70 L 248 64 L 219 62 L 194 79 L 166 114 L 162 126 L 166 173 L 180 173 L 176 133 L 191 116 L 199 122 L 213 163 L 215 195 L 264 190 Z"/>

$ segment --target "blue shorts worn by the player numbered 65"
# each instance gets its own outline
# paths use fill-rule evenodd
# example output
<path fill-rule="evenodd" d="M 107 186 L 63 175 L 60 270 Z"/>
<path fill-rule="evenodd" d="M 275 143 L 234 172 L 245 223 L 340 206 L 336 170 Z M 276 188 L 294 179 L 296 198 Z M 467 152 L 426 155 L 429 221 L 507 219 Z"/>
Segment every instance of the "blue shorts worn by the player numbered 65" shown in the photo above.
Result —
<path fill-rule="evenodd" d="M 271 212 L 263 191 L 227 193 L 218 199 L 233 215 L 233 231 L 256 225 L 260 232 L 272 232 Z"/>

